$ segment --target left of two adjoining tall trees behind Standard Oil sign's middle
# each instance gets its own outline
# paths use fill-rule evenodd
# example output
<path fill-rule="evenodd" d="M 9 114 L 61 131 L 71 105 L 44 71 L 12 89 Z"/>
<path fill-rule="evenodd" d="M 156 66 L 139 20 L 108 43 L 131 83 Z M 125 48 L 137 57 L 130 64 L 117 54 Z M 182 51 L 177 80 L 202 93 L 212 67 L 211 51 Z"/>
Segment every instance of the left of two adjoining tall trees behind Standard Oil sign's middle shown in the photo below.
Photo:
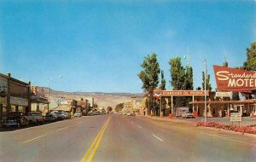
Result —
<path fill-rule="evenodd" d="M 185 69 L 182 66 L 181 58 L 176 57 L 169 61 L 169 64 L 171 66 L 170 72 L 171 72 L 171 85 L 172 90 L 185 90 Z M 184 97 L 173 97 L 173 103 L 174 107 L 183 107 L 185 103 Z"/>

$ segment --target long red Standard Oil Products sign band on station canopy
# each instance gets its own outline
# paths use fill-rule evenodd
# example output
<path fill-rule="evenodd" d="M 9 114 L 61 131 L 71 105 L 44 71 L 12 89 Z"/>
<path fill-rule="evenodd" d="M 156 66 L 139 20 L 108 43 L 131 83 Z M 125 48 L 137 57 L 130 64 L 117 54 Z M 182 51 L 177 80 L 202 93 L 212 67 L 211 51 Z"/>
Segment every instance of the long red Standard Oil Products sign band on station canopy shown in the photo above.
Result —
<path fill-rule="evenodd" d="M 193 96 L 193 95 L 205 95 L 205 90 L 154 90 L 153 95 L 156 98 L 161 96 Z M 209 95 L 209 90 L 207 90 Z"/>

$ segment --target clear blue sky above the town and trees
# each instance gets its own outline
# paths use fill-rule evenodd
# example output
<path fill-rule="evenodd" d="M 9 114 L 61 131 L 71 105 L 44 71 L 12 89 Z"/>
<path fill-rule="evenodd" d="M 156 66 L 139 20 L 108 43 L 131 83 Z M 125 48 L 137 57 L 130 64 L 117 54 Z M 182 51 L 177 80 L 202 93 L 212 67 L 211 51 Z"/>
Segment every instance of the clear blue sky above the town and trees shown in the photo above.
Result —
<path fill-rule="evenodd" d="M 214 90 L 212 66 L 241 67 L 255 41 L 255 0 L 0 0 L 0 73 L 53 90 L 143 93 L 153 53 L 167 90 L 177 56 L 195 89 L 206 60 Z"/>

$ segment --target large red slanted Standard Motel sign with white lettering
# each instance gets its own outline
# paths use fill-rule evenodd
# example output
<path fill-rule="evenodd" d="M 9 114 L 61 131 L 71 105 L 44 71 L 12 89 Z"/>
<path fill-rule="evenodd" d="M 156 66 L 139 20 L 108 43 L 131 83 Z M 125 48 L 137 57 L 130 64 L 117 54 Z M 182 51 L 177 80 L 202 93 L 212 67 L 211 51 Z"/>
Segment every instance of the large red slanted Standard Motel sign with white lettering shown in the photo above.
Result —
<path fill-rule="evenodd" d="M 256 72 L 213 66 L 218 90 L 252 93 L 256 90 Z"/>

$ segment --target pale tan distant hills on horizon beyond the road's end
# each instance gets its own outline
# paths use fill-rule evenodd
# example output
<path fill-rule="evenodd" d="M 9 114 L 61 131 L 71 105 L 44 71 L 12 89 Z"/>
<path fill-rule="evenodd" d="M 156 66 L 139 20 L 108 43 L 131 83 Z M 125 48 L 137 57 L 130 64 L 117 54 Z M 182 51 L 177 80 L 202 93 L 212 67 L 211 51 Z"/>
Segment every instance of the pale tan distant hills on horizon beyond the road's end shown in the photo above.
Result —
<path fill-rule="evenodd" d="M 42 95 L 48 94 L 48 88 L 38 87 L 38 93 Z M 143 98 L 143 94 L 132 94 L 132 93 L 105 93 L 105 92 L 65 92 L 65 91 L 55 91 L 49 89 L 49 96 L 53 96 L 56 98 L 66 97 L 74 100 L 81 100 L 81 98 L 90 98 L 93 97 L 95 103 L 99 107 L 113 107 L 122 102 L 131 101 L 132 98 Z"/>

